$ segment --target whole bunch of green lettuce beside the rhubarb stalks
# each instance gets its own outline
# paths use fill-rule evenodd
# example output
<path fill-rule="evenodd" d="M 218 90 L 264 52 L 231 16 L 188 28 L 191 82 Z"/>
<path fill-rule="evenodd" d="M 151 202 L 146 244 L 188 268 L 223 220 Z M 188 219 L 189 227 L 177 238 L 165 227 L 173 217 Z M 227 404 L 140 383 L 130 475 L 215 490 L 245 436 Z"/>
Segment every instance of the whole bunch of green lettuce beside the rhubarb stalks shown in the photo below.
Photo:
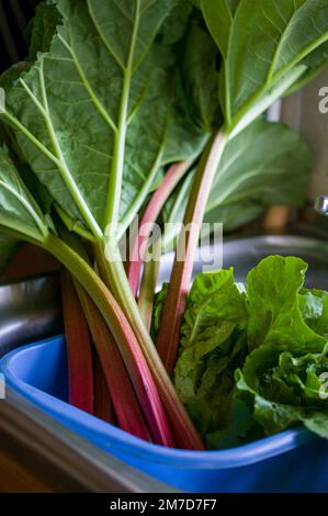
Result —
<path fill-rule="evenodd" d="M 199 274 L 188 299 L 174 385 L 208 448 L 304 424 L 328 438 L 328 293 L 307 265 L 271 256 L 248 274 Z"/>

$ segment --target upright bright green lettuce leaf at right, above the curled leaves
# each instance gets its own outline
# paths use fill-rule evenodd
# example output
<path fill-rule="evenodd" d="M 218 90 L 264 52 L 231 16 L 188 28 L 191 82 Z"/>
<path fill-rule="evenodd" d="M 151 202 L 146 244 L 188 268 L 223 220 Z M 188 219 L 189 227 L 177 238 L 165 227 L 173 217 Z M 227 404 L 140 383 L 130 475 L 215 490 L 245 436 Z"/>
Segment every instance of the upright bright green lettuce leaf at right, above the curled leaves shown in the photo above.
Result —
<path fill-rule="evenodd" d="M 264 344 L 293 352 L 321 352 L 326 339 L 304 321 L 298 294 L 307 265 L 299 258 L 264 258 L 247 277 L 248 346 Z"/>

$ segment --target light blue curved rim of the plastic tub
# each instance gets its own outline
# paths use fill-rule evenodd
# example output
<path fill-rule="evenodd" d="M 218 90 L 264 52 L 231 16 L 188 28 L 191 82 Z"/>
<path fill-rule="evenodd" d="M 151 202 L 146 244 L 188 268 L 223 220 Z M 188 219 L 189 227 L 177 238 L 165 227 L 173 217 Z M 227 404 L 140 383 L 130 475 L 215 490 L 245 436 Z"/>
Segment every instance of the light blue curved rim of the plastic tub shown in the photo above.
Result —
<path fill-rule="evenodd" d="M 177 460 L 179 460 L 181 468 L 214 470 L 253 464 L 317 439 L 317 436 L 306 428 L 297 427 L 248 445 L 215 451 L 171 449 L 146 442 L 18 378 L 15 361 L 18 358 L 21 359 L 22 354 L 39 346 L 49 347 L 54 344 L 65 344 L 65 337 L 63 335 L 50 337 L 36 344 L 23 346 L 5 355 L 0 360 L 0 371 L 4 374 L 7 385 L 94 444 L 100 445 L 100 441 L 105 441 L 109 451 L 114 447 L 115 451 L 122 450 L 122 452 L 126 452 L 126 449 L 128 449 L 131 456 L 145 458 L 147 461 L 157 464 L 160 461 L 165 465 L 177 467 Z"/>

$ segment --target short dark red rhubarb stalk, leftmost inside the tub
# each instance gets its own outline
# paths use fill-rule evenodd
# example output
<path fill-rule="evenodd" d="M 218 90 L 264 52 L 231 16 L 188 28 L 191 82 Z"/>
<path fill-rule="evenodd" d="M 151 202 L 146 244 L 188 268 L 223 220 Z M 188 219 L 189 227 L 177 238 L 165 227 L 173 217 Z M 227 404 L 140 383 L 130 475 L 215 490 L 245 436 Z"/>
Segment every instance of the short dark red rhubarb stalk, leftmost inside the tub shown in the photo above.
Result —
<path fill-rule="evenodd" d="M 93 414 L 93 361 L 88 324 L 72 280 L 60 272 L 61 301 L 67 344 L 69 403 Z"/>

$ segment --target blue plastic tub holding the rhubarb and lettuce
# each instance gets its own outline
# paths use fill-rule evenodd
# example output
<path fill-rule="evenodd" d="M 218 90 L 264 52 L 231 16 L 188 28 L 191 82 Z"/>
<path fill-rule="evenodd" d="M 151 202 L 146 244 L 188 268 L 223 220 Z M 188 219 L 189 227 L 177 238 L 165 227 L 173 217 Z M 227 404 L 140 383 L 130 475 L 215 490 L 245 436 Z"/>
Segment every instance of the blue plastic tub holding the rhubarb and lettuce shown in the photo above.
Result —
<path fill-rule="evenodd" d="M 327 492 L 328 442 L 296 428 L 222 451 L 144 442 L 75 408 L 67 400 L 65 337 L 19 348 L 0 362 L 7 384 L 103 450 L 190 492 Z"/>

